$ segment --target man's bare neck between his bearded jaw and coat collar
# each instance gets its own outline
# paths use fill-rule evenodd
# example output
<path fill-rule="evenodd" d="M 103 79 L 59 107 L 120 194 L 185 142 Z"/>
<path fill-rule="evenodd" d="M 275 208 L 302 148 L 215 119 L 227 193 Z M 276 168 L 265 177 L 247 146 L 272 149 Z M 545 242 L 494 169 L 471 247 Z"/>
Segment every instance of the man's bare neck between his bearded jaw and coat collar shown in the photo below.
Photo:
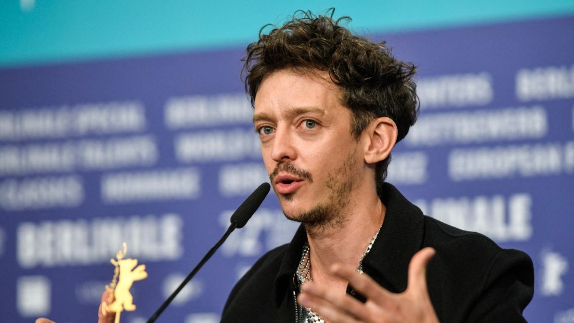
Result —
<path fill-rule="evenodd" d="M 312 276 L 318 283 L 346 286 L 346 282 L 331 274 L 331 266 L 335 263 L 358 266 L 383 223 L 386 208 L 378 197 L 348 207 L 352 212 L 343 213 L 342 223 L 307 228 Z"/>

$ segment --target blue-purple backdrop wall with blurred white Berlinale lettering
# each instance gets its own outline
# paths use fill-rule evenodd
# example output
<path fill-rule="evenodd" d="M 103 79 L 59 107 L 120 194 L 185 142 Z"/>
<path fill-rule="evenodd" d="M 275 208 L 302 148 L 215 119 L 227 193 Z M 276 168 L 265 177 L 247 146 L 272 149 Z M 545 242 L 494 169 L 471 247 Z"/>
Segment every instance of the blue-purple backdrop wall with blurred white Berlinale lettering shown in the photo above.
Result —
<path fill-rule="evenodd" d="M 574 322 L 574 18 L 377 35 L 419 66 L 421 114 L 388 181 L 426 214 L 529 253 L 526 317 Z M 110 258 L 146 264 L 145 322 L 267 180 L 242 48 L 0 70 L 6 322 L 95 320 Z M 211 323 L 290 240 L 271 194 L 160 318 Z"/>

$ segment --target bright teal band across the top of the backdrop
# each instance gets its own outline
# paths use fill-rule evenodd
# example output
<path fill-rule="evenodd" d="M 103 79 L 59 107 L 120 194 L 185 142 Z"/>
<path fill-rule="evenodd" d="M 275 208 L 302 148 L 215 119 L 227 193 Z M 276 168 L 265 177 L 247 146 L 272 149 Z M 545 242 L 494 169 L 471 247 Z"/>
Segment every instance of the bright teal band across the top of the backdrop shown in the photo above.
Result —
<path fill-rule="evenodd" d="M 0 2 L 0 66 L 243 46 L 296 9 L 336 7 L 363 33 L 574 14 L 572 0 Z"/>

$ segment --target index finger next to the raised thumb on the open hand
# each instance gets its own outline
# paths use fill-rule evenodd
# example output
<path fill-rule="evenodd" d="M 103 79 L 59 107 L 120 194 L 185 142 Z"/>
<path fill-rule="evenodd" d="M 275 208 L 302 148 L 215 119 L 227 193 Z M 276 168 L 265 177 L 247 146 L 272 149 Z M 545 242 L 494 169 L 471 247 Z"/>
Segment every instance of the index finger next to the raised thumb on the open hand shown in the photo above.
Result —
<path fill-rule="evenodd" d="M 352 266 L 335 264 L 331 267 L 331 271 L 340 278 L 347 280 L 355 291 L 376 303 L 384 304 L 391 297 L 391 293 L 383 289 L 373 278 L 367 274 L 359 274 Z"/>

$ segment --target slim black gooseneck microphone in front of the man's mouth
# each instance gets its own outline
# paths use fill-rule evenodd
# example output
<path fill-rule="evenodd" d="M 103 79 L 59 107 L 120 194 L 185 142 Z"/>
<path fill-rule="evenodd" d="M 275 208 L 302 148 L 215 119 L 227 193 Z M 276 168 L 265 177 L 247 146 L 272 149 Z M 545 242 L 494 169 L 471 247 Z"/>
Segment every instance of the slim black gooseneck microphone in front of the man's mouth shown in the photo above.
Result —
<path fill-rule="evenodd" d="M 243 226 L 245 226 L 247 221 L 249 221 L 251 216 L 253 216 L 253 213 L 257 211 L 259 205 L 261 205 L 263 199 L 265 199 L 270 189 L 271 186 L 269 183 L 263 183 L 259 185 L 259 187 L 257 187 L 257 189 L 253 191 L 253 193 L 251 193 L 251 195 L 249 195 L 249 197 L 247 197 L 243 203 L 241 203 L 237 210 L 235 210 L 235 212 L 232 214 L 231 225 L 229 228 L 227 228 L 227 231 L 223 234 L 221 239 L 219 239 L 219 241 L 213 247 L 211 247 L 210 251 L 208 251 L 205 256 L 203 256 L 203 259 L 201 259 L 199 264 L 193 268 L 189 275 L 187 275 L 183 282 L 181 282 L 180 286 L 177 287 L 177 289 L 173 291 L 171 295 L 169 295 L 168 299 L 166 299 L 160 308 L 157 309 L 156 313 L 153 313 L 153 315 L 146 323 L 155 322 L 160 314 L 164 312 L 165 308 L 168 307 L 169 303 L 171 303 L 173 299 L 176 298 L 177 294 L 179 294 L 179 292 L 183 289 L 183 287 L 189 283 L 189 280 L 191 280 L 193 276 L 197 274 L 200 268 L 203 267 L 207 260 L 209 260 L 211 256 L 214 255 L 215 251 L 225 242 L 231 232 L 233 232 L 233 230 L 236 228 L 243 228 Z"/>

